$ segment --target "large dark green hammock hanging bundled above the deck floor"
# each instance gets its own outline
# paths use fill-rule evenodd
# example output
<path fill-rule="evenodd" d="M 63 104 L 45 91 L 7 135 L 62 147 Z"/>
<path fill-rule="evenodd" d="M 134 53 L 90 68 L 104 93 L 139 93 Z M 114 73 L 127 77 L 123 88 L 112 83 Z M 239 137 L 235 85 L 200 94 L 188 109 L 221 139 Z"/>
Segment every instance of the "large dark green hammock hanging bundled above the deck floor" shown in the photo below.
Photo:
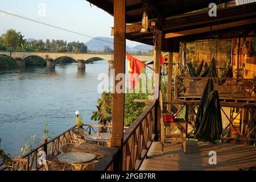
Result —
<path fill-rule="evenodd" d="M 203 142 L 214 142 L 214 140 L 220 139 L 221 133 L 220 100 L 217 90 L 214 90 L 213 80 L 209 79 L 196 114 L 195 139 Z"/>

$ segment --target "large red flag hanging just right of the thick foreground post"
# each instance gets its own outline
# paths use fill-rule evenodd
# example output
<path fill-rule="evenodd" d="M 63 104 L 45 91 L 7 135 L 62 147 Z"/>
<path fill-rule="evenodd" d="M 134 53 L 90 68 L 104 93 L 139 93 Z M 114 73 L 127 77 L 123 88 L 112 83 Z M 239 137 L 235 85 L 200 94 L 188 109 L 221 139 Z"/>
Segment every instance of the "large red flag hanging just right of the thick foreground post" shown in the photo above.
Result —
<path fill-rule="evenodd" d="M 139 75 L 141 75 L 145 64 L 127 53 L 126 56 L 129 69 L 129 88 L 133 89 L 139 83 Z"/>

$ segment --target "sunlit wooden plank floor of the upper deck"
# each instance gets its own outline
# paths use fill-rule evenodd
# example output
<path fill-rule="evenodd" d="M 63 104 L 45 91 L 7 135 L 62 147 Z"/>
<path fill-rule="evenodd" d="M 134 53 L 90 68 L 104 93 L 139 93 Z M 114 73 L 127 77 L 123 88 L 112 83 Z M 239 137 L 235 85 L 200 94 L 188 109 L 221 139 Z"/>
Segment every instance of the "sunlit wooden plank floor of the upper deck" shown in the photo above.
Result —
<path fill-rule="evenodd" d="M 217 164 L 209 164 L 209 151 L 216 151 Z M 187 154 L 183 154 L 180 143 L 164 143 L 160 154 L 160 143 L 154 142 L 139 170 L 191 171 L 191 170 L 239 170 L 256 166 L 256 146 L 240 144 L 212 144 L 187 141 Z"/>

